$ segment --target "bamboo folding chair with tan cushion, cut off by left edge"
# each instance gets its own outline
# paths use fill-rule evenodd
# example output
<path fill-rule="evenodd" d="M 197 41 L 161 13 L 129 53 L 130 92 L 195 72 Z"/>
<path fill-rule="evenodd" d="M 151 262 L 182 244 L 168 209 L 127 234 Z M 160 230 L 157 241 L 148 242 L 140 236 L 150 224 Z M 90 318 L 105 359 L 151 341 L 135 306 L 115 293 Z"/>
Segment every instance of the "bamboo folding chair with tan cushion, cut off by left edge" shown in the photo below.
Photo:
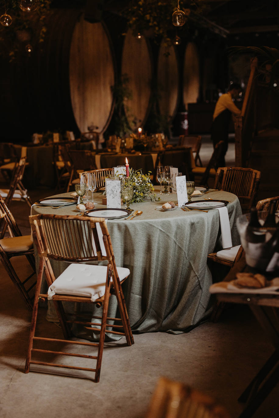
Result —
<path fill-rule="evenodd" d="M 33 256 L 33 241 L 31 240 L 30 235 L 23 236 L 21 234 L 20 229 L 2 196 L 0 196 L 0 218 L 2 226 L 0 233 L 0 261 L 15 287 L 18 289 L 26 306 L 28 309 L 32 310 L 32 296 L 34 296 L 32 295 L 32 292 L 34 293 L 34 287 L 36 285 L 36 280 L 31 281 L 33 275 L 36 274 Z M 9 227 L 13 237 L 4 238 L 7 227 Z M 20 280 L 13 265 L 10 263 L 10 258 L 18 257 L 20 255 L 26 256 L 33 269 L 33 273 L 23 281 Z"/>

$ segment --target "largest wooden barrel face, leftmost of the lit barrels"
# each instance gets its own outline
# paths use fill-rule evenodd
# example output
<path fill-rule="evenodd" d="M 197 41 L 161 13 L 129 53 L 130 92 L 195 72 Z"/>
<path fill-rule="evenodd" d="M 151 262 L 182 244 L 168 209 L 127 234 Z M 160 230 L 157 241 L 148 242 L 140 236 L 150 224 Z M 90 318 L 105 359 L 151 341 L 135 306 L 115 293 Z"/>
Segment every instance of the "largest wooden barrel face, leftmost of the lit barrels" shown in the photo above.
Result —
<path fill-rule="evenodd" d="M 81 132 L 103 132 L 112 115 L 115 69 L 110 41 L 102 23 L 81 18 L 72 36 L 69 82 L 74 117 Z"/>

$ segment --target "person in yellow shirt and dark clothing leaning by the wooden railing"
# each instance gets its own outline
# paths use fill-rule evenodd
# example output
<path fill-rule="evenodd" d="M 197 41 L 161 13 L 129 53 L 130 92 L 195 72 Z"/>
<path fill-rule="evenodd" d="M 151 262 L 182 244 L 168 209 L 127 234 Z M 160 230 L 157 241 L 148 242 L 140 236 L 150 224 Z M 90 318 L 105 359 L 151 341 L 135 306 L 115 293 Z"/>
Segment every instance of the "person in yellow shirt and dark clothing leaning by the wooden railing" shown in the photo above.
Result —
<path fill-rule="evenodd" d="M 223 149 L 218 161 L 218 167 L 225 167 L 225 154 L 228 150 L 228 133 L 231 115 L 240 116 L 241 110 L 235 106 L 233 99 L 237 99 L 241 92 L 240 84 L 230 84 L 228 93 L 219 97 L 213 113 L 211 128 L 211 140 L 213 147 L 219 142 L 224 141 Z"/>

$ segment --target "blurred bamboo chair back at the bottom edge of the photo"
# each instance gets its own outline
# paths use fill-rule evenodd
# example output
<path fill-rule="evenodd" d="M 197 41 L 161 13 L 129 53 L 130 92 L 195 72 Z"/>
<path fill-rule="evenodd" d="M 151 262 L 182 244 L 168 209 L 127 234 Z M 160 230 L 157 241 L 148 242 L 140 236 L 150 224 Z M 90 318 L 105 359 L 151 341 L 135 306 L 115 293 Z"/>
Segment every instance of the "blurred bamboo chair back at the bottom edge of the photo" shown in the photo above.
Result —
<path fill-rule="evenodd" d="M 230 418 L 210 396 L 160 377 L 146 418 Z"/>

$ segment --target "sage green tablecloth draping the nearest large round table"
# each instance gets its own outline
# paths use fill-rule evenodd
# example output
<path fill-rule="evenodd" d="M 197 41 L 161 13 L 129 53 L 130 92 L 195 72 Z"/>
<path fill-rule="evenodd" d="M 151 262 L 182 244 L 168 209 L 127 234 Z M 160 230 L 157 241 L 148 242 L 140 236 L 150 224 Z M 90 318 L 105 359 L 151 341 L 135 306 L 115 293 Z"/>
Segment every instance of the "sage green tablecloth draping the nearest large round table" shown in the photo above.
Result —
<path fill-rule="evenodd" d="M 155 191 L 159 188 L 155 187 Z M 225 191 L 213 191 L 209 196 L 229 201 L 232 242 L 238 245 L 235 220 L 242 212 L 237 196 Z M 102 197 L 101 193 L 94 193 L 95 208 L 105 207 L 101 204 Z M 222 248 L 219 212 L 217 209 L 184 212 L 178 207 L 166 212 L 156 209 L 176 197 L 163 194 L 160 202 L 133 203 L 131 209 L 143 211 L 141 216 L 107 222 L 116 265 L 131 271 L 123 291 L 133 331 L 185 332 L 209 314 L 208 289 L 212 277 L 207 254 Z M 195 200 L 198 199 L 192 199 Z M 75 205 L 59 209 L 33 205 L 31 214 L 42 213 L 75 215 L 78 211 Z M 67 267 L 67 263 L 54 260 L 51 263 L 56 277 Z M 57 321 L 50 306 L 47 319 Z"/>

